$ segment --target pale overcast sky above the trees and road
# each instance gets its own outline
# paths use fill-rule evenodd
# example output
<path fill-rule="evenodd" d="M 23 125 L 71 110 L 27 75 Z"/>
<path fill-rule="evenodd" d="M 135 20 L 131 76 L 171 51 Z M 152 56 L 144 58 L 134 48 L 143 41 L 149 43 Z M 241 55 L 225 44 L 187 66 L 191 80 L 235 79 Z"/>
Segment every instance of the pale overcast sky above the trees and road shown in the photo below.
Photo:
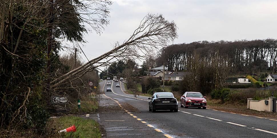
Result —
<path fill-rule="evenodd" d="M 105 30 L 101 35 L 85 35 L 82 49 L 89 59 L 108 52 L 116 42 L 122 44 L 148 13 L 162 14 L 176 23 L 178 38 L 172 44 L 277 38 L 277 0 L 112 1 Z"/>

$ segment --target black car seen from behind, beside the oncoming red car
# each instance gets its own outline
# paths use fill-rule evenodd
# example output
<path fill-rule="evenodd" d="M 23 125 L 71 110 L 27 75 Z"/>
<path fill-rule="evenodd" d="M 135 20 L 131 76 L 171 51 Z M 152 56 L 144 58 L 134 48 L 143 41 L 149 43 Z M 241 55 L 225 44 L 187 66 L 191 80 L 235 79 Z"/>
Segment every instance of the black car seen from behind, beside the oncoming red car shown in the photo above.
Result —
<path fill-rule="evenodd" d="M 155 92 L 152 98 L 148 99 L 150 100 L 149 111 L 170 110 L 178 112 L 178 102 L 172 92 Z"/>

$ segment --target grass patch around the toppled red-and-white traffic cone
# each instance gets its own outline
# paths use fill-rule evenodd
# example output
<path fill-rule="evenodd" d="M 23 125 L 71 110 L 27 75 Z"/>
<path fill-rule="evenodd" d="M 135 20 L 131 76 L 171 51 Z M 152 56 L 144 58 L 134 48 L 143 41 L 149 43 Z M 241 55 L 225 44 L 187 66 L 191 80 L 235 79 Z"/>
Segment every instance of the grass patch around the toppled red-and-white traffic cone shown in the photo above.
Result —
<path fill-rule="evenodd" d="M 76 132 L 68 132 L 61 133 L 57 132 L 57 135 L 61 135 L 61 137 L 78 137 L 78 138 L 86 138 L 86 137 L 101 137 L 100 133 L 100 125 L 95 120 L 92 119 L 84 119 L 75 116 L 63 116 L 60 118 L 53 118 L 49 121 L 50 126 L 52 125 L 55 130 L 60 131 L 71 127 L 72 125 L 76 126 Z"/>

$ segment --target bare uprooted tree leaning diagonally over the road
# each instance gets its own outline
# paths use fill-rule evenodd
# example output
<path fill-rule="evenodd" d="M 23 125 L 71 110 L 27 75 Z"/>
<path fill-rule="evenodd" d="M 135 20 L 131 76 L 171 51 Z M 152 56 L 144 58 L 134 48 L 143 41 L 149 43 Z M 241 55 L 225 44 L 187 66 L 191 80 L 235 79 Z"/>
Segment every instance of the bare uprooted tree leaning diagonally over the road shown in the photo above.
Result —
<path fill-rule="evenodd" d="M 115 48 L 113 48 L 111 51 L 90 60 L 84 65 L 66 73 L 58 79 L 51 81 L 51 88 L 55 88 L 68 79 L 75 77 L 77 74 L 85 72 L 93 64 L 98 63 L 103 59 L 126 54 L 124 53 L 126 51 L 130 52 L 130 50 L 126 50 L 128 48 L 133 47 L 145 53 L 149 52 L 151 48 L 166 46 L 168 42 L 173 41 L 175 38 L 177 38 L 177 27 L 173 21 L 168 22 L 162 15 L 148 14 L 140 22 L 140 25 L 134 31 L 131 37 L 122 45 L 115 46 Z M 130 55 L 139 56 L 137 53 Z"/>

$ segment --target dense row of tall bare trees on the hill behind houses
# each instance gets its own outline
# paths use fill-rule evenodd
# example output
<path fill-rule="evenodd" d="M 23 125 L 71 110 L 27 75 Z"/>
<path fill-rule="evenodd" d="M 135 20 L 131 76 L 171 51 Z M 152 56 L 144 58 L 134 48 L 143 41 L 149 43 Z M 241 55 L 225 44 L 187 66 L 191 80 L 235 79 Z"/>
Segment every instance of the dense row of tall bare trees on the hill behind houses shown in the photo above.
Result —
<path fill-rule="evenodd" d="M 232 72 L 266 70 L 276 71 L 277 40 L 237 40 L 237 41 L 198 41 L 189 44 L 174 44 L 162 48 L 157 57 L 157 65 L 168 65 L 168 70 L 187 70 L 193 53 L 200 55 L 201 59 L 211 61 L 211 57 L 218 59 Z"/>

